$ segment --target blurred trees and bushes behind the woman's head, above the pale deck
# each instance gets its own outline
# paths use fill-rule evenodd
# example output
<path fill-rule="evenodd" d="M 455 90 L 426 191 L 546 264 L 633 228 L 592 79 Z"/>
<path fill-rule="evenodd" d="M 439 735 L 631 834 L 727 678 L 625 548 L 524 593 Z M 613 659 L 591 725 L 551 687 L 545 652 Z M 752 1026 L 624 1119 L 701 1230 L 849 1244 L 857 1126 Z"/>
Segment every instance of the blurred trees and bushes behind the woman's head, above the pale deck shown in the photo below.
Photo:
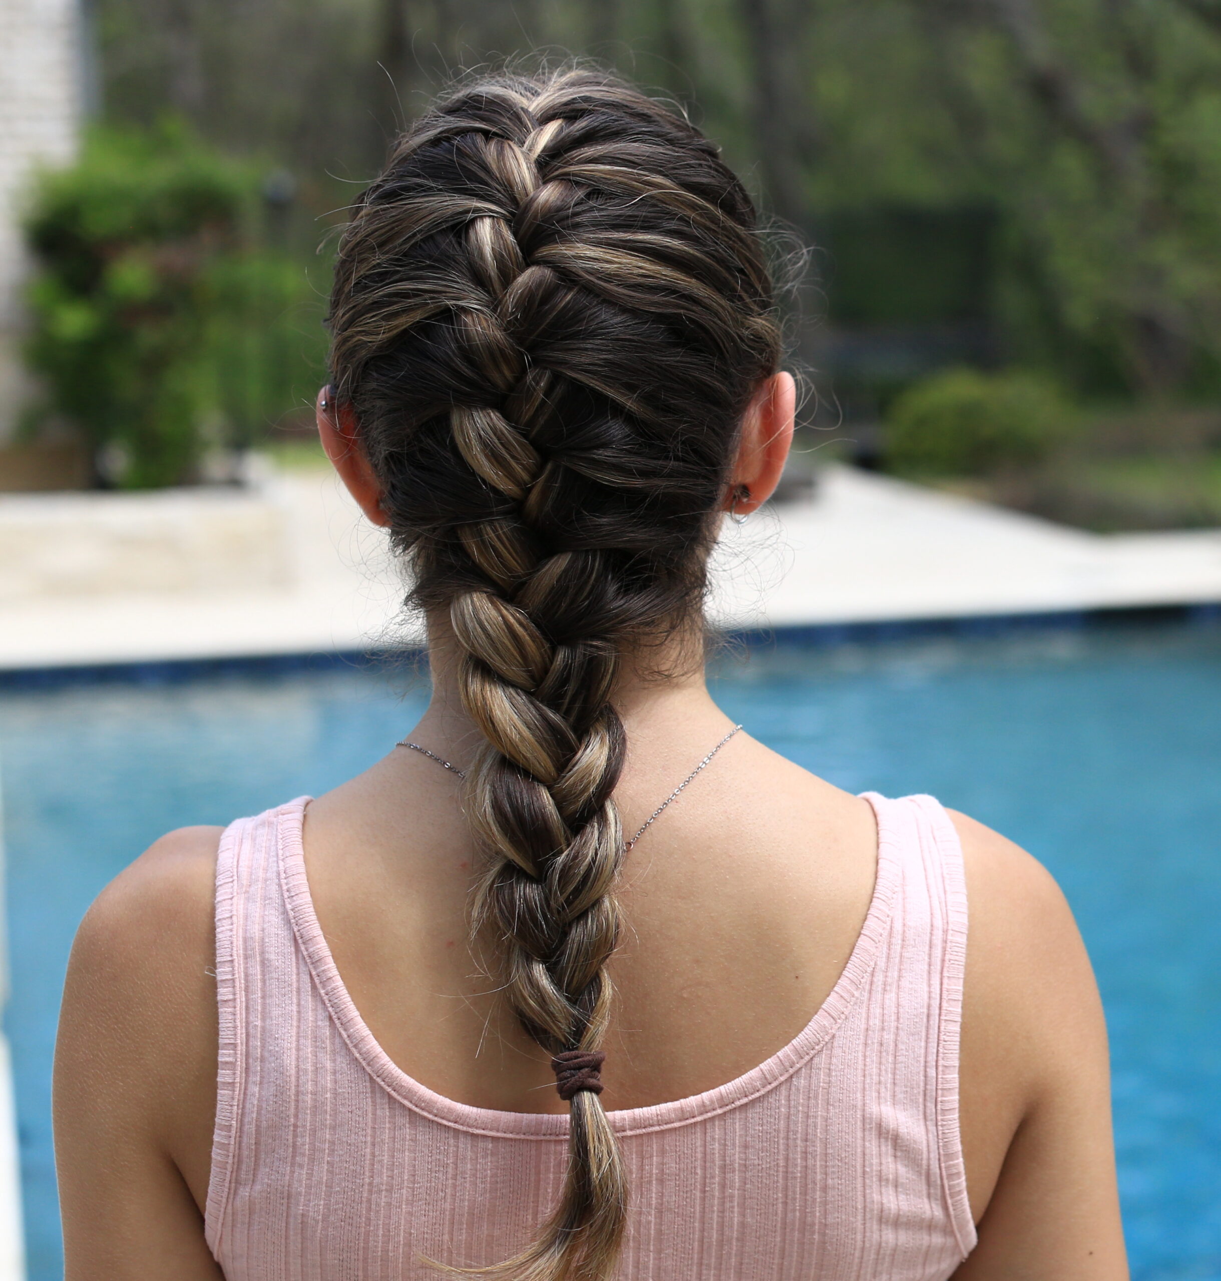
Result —
<path fill-rule="evenodd" d="M 0 487 L 291 448 L 346 202 L 448 77 L 536 50 L 673 97 L 812 247 L 824 447 L 1085 528 L 1221 521 L 1217 0 L 87 0 Z"/>

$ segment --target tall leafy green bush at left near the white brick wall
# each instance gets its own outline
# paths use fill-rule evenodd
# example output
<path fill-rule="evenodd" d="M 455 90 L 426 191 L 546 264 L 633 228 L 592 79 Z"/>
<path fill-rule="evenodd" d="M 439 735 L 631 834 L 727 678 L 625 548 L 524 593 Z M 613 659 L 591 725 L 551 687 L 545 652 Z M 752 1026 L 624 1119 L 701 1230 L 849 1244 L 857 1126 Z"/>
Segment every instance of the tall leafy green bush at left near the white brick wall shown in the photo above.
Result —
<path fill-rule="evenodd" d="M 316 375 L 319 307 L 301 265 L 258 247 L 258 170 L 174 123 L 95 129 L 37 186 L 40 414 L 74 424 L 110 483 L 191 480 L 206 448 L 251 443 Z"/>

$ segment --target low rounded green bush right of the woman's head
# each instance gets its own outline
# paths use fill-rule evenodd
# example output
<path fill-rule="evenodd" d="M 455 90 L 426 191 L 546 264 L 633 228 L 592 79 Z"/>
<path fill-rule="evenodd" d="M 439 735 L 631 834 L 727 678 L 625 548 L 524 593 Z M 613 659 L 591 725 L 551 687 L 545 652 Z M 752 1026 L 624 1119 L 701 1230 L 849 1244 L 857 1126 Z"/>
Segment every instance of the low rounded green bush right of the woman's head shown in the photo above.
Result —
<path fill-rule="evenodd" d="M 1063 438 L 1072 418 L 1054 384 L 1037 374 L 947 369 L 890 405 L 887 470 L 967 477 L 1030 465 Z"/>

